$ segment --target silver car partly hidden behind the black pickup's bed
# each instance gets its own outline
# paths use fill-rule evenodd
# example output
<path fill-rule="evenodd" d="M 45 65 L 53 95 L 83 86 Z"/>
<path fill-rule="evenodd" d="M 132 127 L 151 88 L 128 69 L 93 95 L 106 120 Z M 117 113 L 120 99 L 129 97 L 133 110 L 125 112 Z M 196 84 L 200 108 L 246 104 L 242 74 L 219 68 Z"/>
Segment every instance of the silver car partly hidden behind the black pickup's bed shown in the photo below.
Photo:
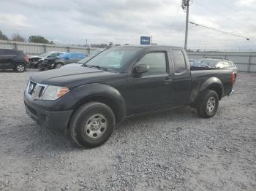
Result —
<path fill-rule="evenodd" d="M 222 58 L 203 58 L 192 63 L 194 67 L 206 67 L 214 69 L 231 69 L 237 77 L 238 68 L 235 63 Z"/>

